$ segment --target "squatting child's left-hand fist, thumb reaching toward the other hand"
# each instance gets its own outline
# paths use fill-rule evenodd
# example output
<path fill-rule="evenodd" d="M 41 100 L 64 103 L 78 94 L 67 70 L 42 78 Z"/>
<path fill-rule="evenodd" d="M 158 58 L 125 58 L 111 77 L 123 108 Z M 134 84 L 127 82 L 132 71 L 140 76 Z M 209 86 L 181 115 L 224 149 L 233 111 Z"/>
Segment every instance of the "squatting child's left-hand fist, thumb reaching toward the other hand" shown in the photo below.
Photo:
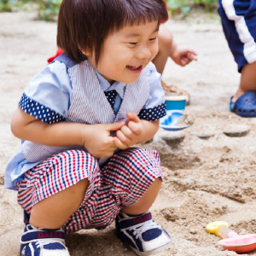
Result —
<path fill-rule="evenodd" d="M 117 146 L 113 143 L 111 131 L 118 131 L 123 125 L 125 125 L 125 122 L 86 125 L 86 129 L 82 135 L 82 139 L 84 139 L 84 148 L 97 158 L 112 156 L 113 151 Z"/>

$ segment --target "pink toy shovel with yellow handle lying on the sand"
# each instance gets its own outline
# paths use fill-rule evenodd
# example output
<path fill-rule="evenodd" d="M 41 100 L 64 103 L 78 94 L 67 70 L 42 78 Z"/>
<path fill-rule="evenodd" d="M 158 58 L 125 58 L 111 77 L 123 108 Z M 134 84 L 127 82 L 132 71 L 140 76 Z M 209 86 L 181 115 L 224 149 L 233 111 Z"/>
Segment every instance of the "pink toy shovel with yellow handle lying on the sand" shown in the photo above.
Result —
<path fill-rule="evenodd" d="M 248 253 L 256 249 L 256 234 L 239 236 L 229 229 L 229 224 L 224 221 L 216 221 L 207 224 L 207 232 L 224 239 L 218 241 L 218 245 L 225 250 L 236 253 Z"/>

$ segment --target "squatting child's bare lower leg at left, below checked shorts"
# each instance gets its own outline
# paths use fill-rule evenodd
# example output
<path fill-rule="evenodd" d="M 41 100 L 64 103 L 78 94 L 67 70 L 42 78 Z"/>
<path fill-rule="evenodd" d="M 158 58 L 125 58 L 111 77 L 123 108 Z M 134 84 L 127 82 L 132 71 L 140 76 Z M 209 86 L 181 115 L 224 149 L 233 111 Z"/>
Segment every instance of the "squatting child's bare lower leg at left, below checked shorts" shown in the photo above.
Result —
<path fill-rule="evenodd" d="M 84 200 L 88 179 L 38 202 L 32 207 L 30 224 L 38 228 L 59 229 Z"/>

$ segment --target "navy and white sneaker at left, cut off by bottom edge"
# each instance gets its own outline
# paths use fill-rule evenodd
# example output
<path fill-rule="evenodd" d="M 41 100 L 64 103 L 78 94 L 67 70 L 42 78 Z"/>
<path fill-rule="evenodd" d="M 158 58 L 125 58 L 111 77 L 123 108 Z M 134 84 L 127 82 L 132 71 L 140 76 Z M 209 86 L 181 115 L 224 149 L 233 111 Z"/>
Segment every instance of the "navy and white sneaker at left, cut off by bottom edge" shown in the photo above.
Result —
<path fill-rule="evenodd" d="M 63 230 L 37 229 L 27 224 L 21 236 L 20 256 L 70 256 Z"/>

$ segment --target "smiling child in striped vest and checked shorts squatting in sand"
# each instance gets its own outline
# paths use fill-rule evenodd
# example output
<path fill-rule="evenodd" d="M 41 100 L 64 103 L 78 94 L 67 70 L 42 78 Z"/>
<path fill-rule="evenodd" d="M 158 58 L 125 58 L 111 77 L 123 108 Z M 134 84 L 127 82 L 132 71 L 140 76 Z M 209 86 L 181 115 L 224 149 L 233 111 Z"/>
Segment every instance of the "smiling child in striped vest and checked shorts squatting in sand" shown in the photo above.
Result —
<path fill-rule="evenodd" d="M 149 208 L 162 182 L 148 141 L 166 114 L 151 62 L 167 19 L 162 0 L 63 0 L 59 55 L 27 85 L 11 129 L 21 139 L 5 186 L 18 190 L 20 255 L 69 255 L 65 234 L 116 232 L 138 255 L 171 238 Z"/>

